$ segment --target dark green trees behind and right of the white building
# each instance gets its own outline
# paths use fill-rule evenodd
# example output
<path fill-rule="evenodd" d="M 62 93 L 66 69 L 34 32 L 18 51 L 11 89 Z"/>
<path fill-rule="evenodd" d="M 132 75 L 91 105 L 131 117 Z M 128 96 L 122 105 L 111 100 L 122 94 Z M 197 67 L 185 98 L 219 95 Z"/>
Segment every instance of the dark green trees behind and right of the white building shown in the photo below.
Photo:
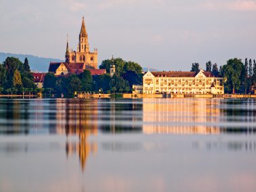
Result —
<path fill-rule="evenodd" d="M 191 72 L 199 72 L 198 63 L 193 63 Z M 212 72 L 214 76 L 222 77 L 224 80 L 225 93 L 251 94 L 253 85 L 256 85 L 256 62 L 255 59 L 229 59 L 226 65 L 218 68 L 211 61 L 205 64 L 205 71 Z"/>

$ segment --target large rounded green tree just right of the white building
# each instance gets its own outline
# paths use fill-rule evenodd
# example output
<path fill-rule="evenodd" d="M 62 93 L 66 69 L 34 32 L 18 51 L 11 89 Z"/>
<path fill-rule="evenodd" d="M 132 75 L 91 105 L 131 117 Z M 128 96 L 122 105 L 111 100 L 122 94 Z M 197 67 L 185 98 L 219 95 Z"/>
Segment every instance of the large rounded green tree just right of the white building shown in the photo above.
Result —
<path fill-rule="evenodd" d="M 226 79 L 225 89 L 228 93 L 237 93 L 243 80 L 242 70 L 244 65 L 241 59 L 229 59 L 221 68 L 221 76 Z"/>

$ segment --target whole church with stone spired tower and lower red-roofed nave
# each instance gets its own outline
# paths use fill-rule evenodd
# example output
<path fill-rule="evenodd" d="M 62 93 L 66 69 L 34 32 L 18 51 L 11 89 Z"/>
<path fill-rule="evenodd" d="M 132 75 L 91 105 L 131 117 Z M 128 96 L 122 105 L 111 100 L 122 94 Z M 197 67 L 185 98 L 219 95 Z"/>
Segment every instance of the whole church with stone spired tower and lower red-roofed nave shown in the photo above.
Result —
<path fill-rule="evenodd" d="M 92 75 L 106 73 L 106 70 L 98 70 L 98 49 L 94 49 L 93 52 L 89 49 L 88 34 L 83 18 L 77 51 L 69 48 L 67 39 L 65 62 L 50 62 L 48 72 L 52 72 L 56 76 L 64 76 L 66 74 L 80 74 L 85 69 L 90 70 Z"/>

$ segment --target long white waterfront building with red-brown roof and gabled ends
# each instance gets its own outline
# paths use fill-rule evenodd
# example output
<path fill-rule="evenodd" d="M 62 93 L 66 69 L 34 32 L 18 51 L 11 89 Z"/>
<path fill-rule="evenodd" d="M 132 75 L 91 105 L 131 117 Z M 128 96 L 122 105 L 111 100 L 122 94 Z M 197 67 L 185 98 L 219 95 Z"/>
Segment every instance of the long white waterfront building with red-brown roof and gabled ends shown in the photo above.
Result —
<path fill-rule="evenodd" d="M 224 94 L 223 79 L 211 72 L 147 72 L 143 93 Z"/>

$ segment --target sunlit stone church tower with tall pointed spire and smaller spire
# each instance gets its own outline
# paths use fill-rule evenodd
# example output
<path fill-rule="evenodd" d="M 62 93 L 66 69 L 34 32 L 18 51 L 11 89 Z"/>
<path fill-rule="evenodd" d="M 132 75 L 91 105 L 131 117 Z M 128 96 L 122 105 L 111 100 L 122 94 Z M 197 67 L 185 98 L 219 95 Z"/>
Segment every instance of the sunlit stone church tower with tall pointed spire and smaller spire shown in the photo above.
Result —
<path fill-rule="evenodd" d="M 98 49 L 94 49 L 93 52 L 90 52 L 84 18 L 82 21 L 81 32 L 79 34 L 77 51 L 70 49 L 67 41 L 65 57 L 66 63 L 83 63 L 86 69 L 98 68 Z"/>

